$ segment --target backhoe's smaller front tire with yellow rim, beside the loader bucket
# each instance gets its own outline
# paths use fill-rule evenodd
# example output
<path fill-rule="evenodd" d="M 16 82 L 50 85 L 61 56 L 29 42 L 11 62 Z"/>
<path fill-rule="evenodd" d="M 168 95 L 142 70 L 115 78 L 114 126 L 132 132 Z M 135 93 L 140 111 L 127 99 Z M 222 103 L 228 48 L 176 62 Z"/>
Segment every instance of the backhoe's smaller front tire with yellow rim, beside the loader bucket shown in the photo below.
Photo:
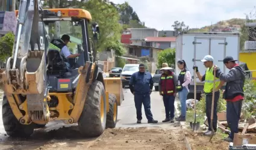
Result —
<path fill-rule="evenodd" d="M 117 100 L 116 95 L 108 94 L 109 112 L 107 113 L 107 125 L 106 128 L 116 127 L 117 122 Z"/>

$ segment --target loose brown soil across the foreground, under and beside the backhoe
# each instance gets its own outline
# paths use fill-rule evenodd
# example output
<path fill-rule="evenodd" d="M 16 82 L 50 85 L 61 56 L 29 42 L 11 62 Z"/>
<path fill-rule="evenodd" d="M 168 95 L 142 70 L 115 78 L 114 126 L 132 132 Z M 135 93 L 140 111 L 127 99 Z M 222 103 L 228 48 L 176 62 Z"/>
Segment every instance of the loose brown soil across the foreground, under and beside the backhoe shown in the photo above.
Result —
<path fill-rule="evenodd" d="M 75 127 L 61 128 L 46 133 L 36 131 L 30 139 L 7 137 L 0 149 L 168 149 L 186 148 L 180 127 L 176 130 L 161 128 L 107 129 L 98 138 L 84 139 Z"/>

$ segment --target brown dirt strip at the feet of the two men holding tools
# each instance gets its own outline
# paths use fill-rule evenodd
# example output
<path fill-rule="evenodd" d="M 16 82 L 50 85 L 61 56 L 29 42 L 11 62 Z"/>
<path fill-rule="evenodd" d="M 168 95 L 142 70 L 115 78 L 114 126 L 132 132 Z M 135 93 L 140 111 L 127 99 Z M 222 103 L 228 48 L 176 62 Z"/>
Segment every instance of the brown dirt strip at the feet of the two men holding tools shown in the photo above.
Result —
<path fill-rule="evenodd" d="M 223 141 L 217 134 L 209 142 L 210 137 L 204 136 L 203 133 L 194 133 L 189 130 L 184 130 L 184 133 L 192 149 L 228 149 L 229 143 Z"/>

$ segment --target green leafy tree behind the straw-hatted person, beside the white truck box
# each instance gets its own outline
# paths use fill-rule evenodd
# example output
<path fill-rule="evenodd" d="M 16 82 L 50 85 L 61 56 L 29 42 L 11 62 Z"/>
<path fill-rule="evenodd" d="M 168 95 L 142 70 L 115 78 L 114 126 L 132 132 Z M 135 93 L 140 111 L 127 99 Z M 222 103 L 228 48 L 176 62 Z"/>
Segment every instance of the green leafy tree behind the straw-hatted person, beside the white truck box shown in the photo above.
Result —
<path fill-rule="evenodd" d="M 164 49 L 157 53 L 157 67 L 161 68 L 163 63 L 167 63 L 170 66 L 175 65 L 175 49 Z"/>

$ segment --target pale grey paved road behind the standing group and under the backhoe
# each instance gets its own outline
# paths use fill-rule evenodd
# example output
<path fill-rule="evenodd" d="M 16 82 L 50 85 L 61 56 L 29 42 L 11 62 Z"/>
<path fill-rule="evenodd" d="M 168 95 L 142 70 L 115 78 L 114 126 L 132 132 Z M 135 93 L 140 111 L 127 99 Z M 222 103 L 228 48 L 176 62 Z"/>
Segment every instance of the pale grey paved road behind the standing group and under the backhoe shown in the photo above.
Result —
<path fill-rule="evenodd" d="M 167 122 L 167 123 L 161 122 L 165 118 L 165 115 L 164 115 L 163 100 L 159 95 L 159 92 L 156 92 L 153 89 L 151 94 L 151 112 L 153 113 L 154 119 L 158 120 L 158 124 L 147 123 L 148 121 L 146 119 L 143 107 L 142 107 L 142 114 L 143 114 L 142 124 L 136 124 L 137 119 L 136 119 L 136 109 L 134 106 L 134 96 L 133 94 L 131 94 L 130 89 L 128 88 L 123 88 L 123 94 L 124 94 L 125 100 L 122 102 L 121 106 L 118 107 L 116 128 L 119 128 L 119 127 L 121 128 L 137 128 L 137 127 L 172 128 L 173 127 L 173 124 L 170 124 L 170 122 Z M 1 106 L 0 113 L 2 113 L 2 98 L 0 99 L 0 106 Z M 76 125 L 77 124 L 73 124 L 72 126 L 76 126 Z M 45 130 L 45 134 L 47 134 L 47 132 L 50 130 L 60 130 L 60 128 L 62 127 L 69 127 L 69 126 L 70 125 L 64 125 L 60 121 L 55 121 L 47 124 L 44 130 Z M 36 135 L 34 135 L 33 138 L 37 138 L 35 137 Z M 41 133 L 40 133 L 40 136 L 42 136 Z M 1 143 L 4 143 L 5 140 L 8 140 L 8 136 L 6 135 L 4 126 L 2 125 L 2 114 L 0 114 L 0 145 Z"/>

